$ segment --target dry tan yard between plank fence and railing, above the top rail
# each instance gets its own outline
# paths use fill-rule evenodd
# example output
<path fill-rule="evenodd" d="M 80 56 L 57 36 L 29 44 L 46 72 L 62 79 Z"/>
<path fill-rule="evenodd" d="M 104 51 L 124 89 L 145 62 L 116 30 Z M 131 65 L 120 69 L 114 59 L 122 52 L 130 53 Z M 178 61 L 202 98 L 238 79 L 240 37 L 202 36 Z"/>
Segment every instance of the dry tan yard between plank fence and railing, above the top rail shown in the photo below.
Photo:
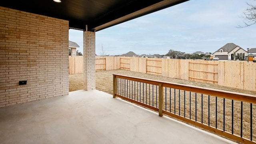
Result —
<path fill-rule="evenodd" d="M 106 92 L 108 94 L 113 94 L 113 75 L 112 74 L 121 74 L 126 76 L 134 76 L 138 78 L 147 78 L 152 80 L 162 80 L 166 82 L 174 82 L 179 84 L 188 84 L 192 86 L 201 86 L 204 88 L 214 88 L 218 90 L 227 90 L 231 92 L 241 92 L 245 94 L 254 94 L 256 95 L 255 91 L 250 90 L 241 90 L 237 88 L 228 88 L 224 86 L 218 86 L 215 84 L 206 84 L 202 82 L 194 82 L 190 80 L 180 80 L 176 78 L 168 78 L 164 76 L 157 76 L 153 74 L 144 74 L 140 72 L 131 72 L 128 70 L 107 70 L 107 71 L 99 71 L 96 72 L 96 89 Z M 83 89 L 83 74 L 72 74 L 69 75 L 69 91 L 75 90 L 82 90 Z"/>

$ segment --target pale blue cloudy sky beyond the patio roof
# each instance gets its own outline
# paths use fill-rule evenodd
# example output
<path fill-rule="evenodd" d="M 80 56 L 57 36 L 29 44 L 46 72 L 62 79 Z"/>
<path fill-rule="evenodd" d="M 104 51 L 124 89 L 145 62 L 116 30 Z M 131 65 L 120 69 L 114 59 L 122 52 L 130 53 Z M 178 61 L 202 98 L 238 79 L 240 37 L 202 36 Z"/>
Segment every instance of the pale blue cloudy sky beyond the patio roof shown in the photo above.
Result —
<path fill-rule="evenodd" d="M 254 0 L 190 0 L 96 32 L 96 54 L 215 52 L 227 43 L 256 48 L 256 24 L 243 26 L 246 4 Z M 69 30 L 83 51 L 83 31 Z"/>

